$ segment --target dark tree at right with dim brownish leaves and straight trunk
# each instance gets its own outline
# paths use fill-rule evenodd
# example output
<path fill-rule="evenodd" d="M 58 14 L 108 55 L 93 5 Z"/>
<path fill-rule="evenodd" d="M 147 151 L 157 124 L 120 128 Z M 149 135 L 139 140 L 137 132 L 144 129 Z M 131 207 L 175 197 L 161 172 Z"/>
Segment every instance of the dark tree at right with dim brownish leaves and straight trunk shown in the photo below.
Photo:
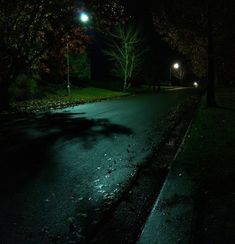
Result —
<path fill-rule="evenodd" d="M 166 42 L 188 58 L 195 75 L 207 77 L 208 106 L 215 106 L 216 79 L 224 78 L 221 67 L 225 63 L 227 71 L 229 63 L 232 65 L 225 53 L 228 46 L 231 47 L 227 37 L 234 29 L 231 26 L 234 3 L 222 0 L 166 0 L 158 9 L 154 13 L 156 30 Z"/>

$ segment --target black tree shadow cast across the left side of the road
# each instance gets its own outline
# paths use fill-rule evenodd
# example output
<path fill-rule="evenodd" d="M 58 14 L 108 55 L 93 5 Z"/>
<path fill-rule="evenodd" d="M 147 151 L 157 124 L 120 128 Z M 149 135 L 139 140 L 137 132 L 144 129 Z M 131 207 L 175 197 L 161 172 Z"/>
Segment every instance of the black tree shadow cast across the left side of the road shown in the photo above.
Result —
<path fill-rule="evenodd" d="M 99 140 L 115 135 L 130 135 L 132 130 L 108 119 L 92 119 L 84 113 L 48 113 L 12 123 L 0 130 L 0 189 L 9 191 L 16 185 L 37 177 L 42 170 L 53 172 L 56 142 L 92 149 Z"/>

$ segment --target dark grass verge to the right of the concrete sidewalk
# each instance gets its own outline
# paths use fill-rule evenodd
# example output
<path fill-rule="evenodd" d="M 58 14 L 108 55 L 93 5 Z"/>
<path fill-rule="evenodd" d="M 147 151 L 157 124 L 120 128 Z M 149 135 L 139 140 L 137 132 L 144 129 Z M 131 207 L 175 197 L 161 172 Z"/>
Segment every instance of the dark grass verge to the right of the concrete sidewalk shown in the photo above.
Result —
<path fill-rule="evenodd" d="M 177 159 L 197 186 L 195 243 L 234 243 L 235 89 L 217 91 L 220 107 L 202 101 Z"/>

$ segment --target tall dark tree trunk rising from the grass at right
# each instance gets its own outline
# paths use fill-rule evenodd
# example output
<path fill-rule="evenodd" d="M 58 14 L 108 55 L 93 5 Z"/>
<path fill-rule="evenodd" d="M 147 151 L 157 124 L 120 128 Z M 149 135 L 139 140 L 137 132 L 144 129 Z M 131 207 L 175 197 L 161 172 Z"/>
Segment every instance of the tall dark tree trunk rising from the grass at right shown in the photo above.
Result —
<path fill-rule="evenodd" d="M 216 107 L 215 99 L 215 60 L 211 4 L 208 4 L 208 81 L 207 81 L 207 106 Z"/>

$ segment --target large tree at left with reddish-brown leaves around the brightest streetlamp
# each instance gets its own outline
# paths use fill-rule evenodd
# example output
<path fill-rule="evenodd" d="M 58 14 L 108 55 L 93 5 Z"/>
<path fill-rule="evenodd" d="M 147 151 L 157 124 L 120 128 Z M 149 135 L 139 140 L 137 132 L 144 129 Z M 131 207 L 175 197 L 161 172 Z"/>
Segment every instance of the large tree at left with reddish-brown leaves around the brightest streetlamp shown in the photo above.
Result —
<path fill-rule="evenodd" d="M 96 23 L 103 31 L 123 18 L 119 0 L 103 3 L 0 0 L 0 108 L 8 107 L 9 87 L 19 74 L 47 72 L 51 80 L 59 80 L 66 72 L 66 44 L 73 53 L 86 48 L 89 38 L 78 21 L 79 11 L 89 7 L 91 19 L 95 20 L 91 25 Z"/>

